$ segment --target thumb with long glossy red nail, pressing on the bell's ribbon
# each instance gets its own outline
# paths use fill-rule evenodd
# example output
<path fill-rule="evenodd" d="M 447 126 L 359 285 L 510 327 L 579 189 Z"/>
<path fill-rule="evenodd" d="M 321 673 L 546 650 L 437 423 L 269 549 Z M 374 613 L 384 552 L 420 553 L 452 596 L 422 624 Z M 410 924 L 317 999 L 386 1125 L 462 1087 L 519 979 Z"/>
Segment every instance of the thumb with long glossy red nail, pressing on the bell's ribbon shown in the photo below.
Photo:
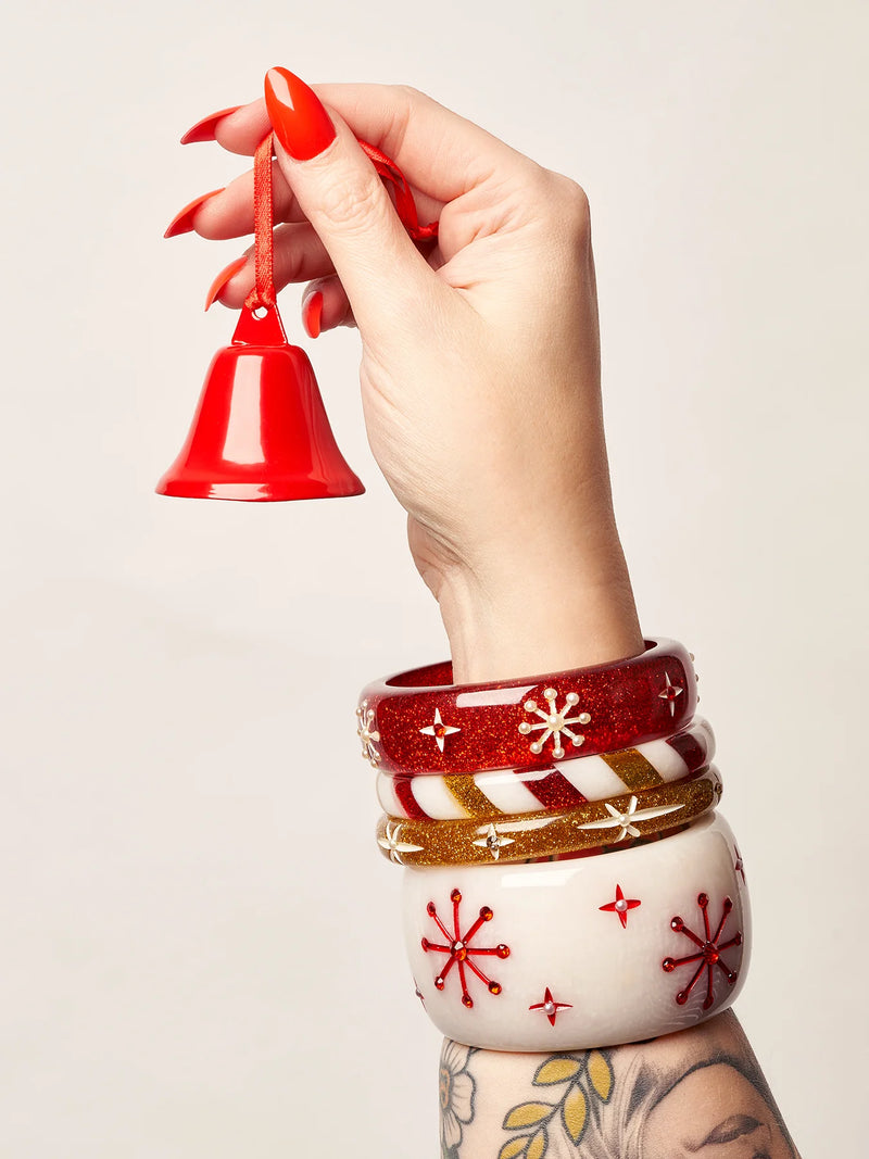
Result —
<path fill-rule="evenodd" d="M 408 236 L 380 177 L 350 127 L 287 68 L 265 75 L 278 162 L 320 235 L 363 337 L 407 321 L 439 282 Z"/>

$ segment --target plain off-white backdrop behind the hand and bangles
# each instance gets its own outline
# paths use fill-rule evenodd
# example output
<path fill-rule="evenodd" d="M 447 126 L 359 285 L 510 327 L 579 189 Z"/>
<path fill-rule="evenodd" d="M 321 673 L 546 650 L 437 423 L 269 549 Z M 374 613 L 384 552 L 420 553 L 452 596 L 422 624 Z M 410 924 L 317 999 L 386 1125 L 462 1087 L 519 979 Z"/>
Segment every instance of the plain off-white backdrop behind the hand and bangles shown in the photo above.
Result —
<path fill-rule="evenodd" d="M 616 509 L 684 640 L 755 917 L 738 1013 L 803 1156 L 867 1081 L 862 2 L 32 0 L 5 13 L 0 1154 L 437 1151 L 353 708 L 445 654 L 371 459 L 358 337 L 308 349 L 363 498 L 153 487 L 234 318 L 161 240 L 244 162 L 200 116 L 411 83 L 592 203 Z"/>

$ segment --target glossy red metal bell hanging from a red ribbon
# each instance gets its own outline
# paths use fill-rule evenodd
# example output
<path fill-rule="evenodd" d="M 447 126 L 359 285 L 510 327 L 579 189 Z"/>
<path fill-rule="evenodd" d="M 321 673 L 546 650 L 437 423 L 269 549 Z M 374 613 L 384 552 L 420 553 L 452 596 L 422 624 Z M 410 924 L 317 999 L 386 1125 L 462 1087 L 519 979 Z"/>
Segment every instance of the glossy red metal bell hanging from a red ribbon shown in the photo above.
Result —
<path fill-rule="evenodd" d="M 362 495 L 326 417 L 307 355 L 286 341 L 276 306 L 244 306 L 218 350 L 181 452 L 158 495 L 315 500 Z"/>

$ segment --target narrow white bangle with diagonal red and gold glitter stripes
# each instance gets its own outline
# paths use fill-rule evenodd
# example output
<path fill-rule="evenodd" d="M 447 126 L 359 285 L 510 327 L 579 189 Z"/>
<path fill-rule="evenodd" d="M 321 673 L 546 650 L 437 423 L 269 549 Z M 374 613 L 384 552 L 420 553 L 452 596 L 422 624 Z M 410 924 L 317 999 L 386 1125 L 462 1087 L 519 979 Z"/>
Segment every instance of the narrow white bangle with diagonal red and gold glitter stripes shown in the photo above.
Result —
<path fill-rule="evenodd" d="M 678 781 L 711 763 L 715 737 L 708 721 L 664 741 L 565 760 L 547 768 L 497 770 L 455 777 L 402 777 L 380 773 L 377 794 L 390 817 L 460 821 L 498 814 L 574 809 L 629 790 Z"/>

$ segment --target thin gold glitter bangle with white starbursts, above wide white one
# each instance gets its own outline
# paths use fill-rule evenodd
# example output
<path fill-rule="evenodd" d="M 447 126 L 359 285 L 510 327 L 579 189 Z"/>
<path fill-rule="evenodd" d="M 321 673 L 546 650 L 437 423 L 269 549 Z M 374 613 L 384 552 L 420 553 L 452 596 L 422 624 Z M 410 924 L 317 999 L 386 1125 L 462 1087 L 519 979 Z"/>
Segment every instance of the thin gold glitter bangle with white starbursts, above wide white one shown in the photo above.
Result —
<path fill-rule="evenodd" d="M 589 801 L 547 814 L 501 814 L 490 821 L 406 821 L 384 815 L 378 845 L 399 865 L 491 865 L 575 853 L 684 825 L 714 809 L 722 783 L 714 765 L 694 778 Z"/>

